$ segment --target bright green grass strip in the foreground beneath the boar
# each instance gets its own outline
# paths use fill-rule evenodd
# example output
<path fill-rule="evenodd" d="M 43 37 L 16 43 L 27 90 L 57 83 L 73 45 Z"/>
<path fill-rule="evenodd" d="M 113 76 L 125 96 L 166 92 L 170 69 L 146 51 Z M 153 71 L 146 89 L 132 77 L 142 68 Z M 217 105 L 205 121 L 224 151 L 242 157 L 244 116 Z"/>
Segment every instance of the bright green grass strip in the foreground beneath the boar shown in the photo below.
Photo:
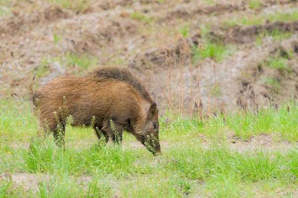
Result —
<path fill-rule="evenodd" d="M 29 150 L 38 127 L 29 101 L 0 100 L 0 107 L 0 197 L 293 197 L 298 186 L 296 101 L 257 115 L 226 113 L 226 122 L 221 115 L 203 121 L 165 114 L 159 156 L 132 146 L 130 134 L 123 146 L 103 146 L 91 129 L 70 126 L 65 149 L 49 136 Z M 242 150 L 229 144 L 231 133 L 239 141 L 268 134 L 277 142 Z M 285 140 L 293 146 L 274 148 Z"/>

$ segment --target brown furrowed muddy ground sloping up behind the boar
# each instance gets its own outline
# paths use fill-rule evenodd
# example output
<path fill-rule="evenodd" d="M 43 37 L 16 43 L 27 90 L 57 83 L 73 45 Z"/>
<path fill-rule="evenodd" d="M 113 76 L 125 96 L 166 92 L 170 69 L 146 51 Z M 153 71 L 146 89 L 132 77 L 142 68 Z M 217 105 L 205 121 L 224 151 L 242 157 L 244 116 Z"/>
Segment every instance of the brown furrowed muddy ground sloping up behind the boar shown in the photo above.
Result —
<path fill-rule="evenodd" d="M 0 98 L 26 99 L 26 86 L 34 72 L 37 87 L 58 76 L 81 75 L 96 66 L 116 65 L 136 73 L 155 92 L 162 110 L 168 103 L 158 82 L 173 108 L 182 96 L 184 112 L 194 108 L 194 99 L 199 98 L 204 108 L 217 105 L 235 109 L 238 96 L 249 103 L 252 88 L 260 106 L 287 101 L 298 91 L 298 19 L 224 25 L 241 16 L 297 11 L 298 7 L 297 0 L 260 2 L 257 9 L 252 9 L 243 0 L 75 0 L 73 4 L 3 1 L 9 11 L 0 15 Z M 206 24 L 210 30 L 203 35 L 202 25 Z M 175 35 L 175 28 L 185 30 L 183 39 Z M 290 36 L 275 40 L 265 35 L 256 44 L 261 33 L 274 30 Z M 179 47 L 181 40 L 192 48 L 203 39 L 220 42 L 233 52 L 220 61 L 207 57 L 193 62 L 191 49 L 185 52 Z M 174 51 L 168 57 L 170 70 L 165 49 Z M 64 58 L 69 54 L 95 63 L 80 67 Z M 284 57 L 289 72 L 266 67 L 268 57 Z M 153 71 L 154 77 L 147 70 Z M 277 88 L 265 83 L 269 77 L 279 83 Z"/>

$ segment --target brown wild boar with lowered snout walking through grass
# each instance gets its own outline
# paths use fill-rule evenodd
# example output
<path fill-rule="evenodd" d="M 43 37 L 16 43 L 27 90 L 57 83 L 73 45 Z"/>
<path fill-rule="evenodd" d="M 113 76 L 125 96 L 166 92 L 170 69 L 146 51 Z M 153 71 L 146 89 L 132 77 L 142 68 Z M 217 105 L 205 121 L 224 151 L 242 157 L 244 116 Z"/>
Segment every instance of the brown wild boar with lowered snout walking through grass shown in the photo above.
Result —
<path fill-rule="evenodd" d="M 154 155 L 160 153 L 155 99 L 127 69 L 105 67 L 81 77 L 60 77 L 32 94 L 41 131 L 52 132 L 59 144 L 64 145 L 67 118 L 72 116 L 72 126 L 91 126 L 98 139 L 118 143 L 125 130 Z"/>

